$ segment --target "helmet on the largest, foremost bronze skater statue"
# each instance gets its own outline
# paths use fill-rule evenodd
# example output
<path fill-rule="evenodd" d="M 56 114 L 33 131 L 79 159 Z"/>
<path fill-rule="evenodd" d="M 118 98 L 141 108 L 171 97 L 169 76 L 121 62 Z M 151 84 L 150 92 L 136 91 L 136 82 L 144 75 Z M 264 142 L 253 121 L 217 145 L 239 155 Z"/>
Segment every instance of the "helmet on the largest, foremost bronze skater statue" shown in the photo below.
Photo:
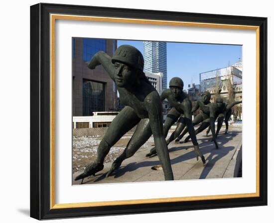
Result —
<path fill-rule="evenodd" d="M 143 71 L 143 56 L 134 46 L 122 45 L 118 47 L 112 57 L 112 63 L 115 62 L 122 62 Z"/>

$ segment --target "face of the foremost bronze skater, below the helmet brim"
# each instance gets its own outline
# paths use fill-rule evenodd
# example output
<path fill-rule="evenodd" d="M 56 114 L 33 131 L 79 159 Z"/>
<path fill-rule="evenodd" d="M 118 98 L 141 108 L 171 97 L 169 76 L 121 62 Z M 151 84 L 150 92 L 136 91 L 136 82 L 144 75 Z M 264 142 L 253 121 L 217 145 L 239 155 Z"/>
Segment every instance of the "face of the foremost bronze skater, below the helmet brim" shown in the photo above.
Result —
<path fill-rule="evenodd" d="M 114 66 L 116 69 L 115 83 L 118 87 L 129 87 L 137 82 L 139 71 L 136 68 L 120 62 L 116 62 Z"/>

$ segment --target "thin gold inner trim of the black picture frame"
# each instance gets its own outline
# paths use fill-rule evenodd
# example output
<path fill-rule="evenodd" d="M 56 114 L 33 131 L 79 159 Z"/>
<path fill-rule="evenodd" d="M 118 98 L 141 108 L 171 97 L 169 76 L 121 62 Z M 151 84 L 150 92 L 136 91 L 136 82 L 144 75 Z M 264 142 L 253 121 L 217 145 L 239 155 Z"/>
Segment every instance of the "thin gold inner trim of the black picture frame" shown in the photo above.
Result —
<path fill-rule="evenodd" d="M 256 110 L 256 135 L 257 135 L 257 138 L 256 138 L 256 141 L 257 141 L 256 143 L 256 193 L 55 204 L 55 20 L 56 19 L 256 30 L 256 87 L 257 87 L 257 92 L 256 92 L 257 94 L 257 98 L 256 98 L 256 106 L 257 106 L 257 110 Z M 68 14 L 50 14 L 50 64 L 51 64 L 50 66 L 50 129 L 51 129 L 51 132 L 50 132 L 50 146 L 51 146 L 50 147 L 50 209 L 84 208 L 84 207 L 100 207 L 100 206 L 115 206 L 115 205 L 133 205 L 133 204 L 153 204 L 153 203 L 166 203 L 166 202 L 201 201 L 201 200 L 233 199 L 233 198 L 251 198 L 251 197 L 260 196 L 260 182 L 259 182 L 260 180 L 260 131 L 259 131 L 260 129 L 260 27 L 259 26 L 152 20 L 152 19 L 80 16 L 80 15 L 68 15 Z"/>

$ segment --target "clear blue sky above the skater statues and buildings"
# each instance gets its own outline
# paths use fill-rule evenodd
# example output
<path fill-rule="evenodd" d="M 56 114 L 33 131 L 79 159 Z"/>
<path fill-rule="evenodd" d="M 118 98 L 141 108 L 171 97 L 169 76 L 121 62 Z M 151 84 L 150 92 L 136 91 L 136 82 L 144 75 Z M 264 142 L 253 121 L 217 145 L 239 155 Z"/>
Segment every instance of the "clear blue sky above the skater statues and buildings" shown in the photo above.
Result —
<path fill-rule="evenodd" d="M 143 54 L 142 41 L 118 40 L 118 47 L 124 44 L 135 46 Z M 172 77 L 180 77 L 184 86 L 199 84 L 199 73 L 227 67 L 242 58 L 242 46 L 167 43 L 167 86 Z"/>

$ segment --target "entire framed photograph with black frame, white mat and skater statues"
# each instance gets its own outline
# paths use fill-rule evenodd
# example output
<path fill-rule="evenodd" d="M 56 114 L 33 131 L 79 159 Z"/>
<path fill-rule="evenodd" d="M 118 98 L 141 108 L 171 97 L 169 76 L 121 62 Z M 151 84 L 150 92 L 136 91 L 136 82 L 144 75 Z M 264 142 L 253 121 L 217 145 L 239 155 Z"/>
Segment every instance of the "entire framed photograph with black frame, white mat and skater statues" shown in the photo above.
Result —
<path fill-rule="evenodd" d="M 30 65 L 32 218 L 267 205 L 267 18 L 39 3 Z"/>

